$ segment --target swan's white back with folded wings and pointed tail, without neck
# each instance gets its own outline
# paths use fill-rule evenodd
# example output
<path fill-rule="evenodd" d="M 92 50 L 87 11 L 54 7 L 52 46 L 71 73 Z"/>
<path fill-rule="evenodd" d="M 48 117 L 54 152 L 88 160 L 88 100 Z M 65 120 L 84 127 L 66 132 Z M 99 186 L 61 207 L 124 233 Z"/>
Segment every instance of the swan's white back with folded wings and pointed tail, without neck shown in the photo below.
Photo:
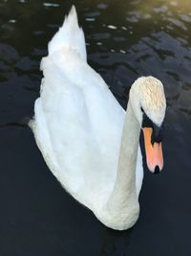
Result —
<path fill-rule="evenodd" d="M 45 161 L 81 203 L 101 207 L 114 188 L 124 110 L 87 64 L 74 7 L 42 59 L 31 127 Z"/>

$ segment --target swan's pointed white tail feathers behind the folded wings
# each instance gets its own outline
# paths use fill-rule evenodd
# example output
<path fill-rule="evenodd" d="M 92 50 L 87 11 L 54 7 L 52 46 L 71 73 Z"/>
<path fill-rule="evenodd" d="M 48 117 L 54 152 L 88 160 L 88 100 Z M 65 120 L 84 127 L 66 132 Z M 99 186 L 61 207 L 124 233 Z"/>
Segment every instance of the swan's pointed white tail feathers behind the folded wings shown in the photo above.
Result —
<path fill-rule="evenodd" d="M 53 36 L 49 42 L 49 54 L 58 51 L 59 48 L 73 49 L 83 60 L 86 61 L 86 45 L 84 33 L 78 26 L 77 13 L 74 6 L 69 15 L 65 17 L 64 23 L 59 31 Z"/>

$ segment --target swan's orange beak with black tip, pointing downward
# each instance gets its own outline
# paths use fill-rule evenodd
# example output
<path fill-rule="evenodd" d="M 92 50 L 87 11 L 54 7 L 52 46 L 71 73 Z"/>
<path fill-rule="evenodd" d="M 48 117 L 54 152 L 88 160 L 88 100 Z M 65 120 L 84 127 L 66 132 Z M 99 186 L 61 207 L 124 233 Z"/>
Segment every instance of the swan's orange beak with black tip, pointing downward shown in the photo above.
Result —
<path fill-rule="evenodd" d="M 163 168 L 163 155 L 161 142 L 152 144 L 153 128 L 142 128 L 144 134 L 144 147 L 146 153 L 146 162 L 149 170 L 152 173 L 159 173 Z"/>

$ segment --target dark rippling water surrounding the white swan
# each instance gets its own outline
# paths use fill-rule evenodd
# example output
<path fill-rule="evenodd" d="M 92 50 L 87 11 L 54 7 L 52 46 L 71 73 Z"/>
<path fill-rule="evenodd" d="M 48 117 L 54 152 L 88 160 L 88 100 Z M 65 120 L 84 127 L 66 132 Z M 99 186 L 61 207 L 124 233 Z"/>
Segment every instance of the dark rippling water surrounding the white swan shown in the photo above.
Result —
<path fill-rule="evenodd" d="M 48 2 L 0 1 L 0 255 L 190 256 L 190 0 Z M 165 86 L 165 168 L 145 174 L 138 223 L 124 232 L 65 193 L 23 121 L 39 95 L 39 61 L 73 3 L 89 63 L 121 105 L 139 76 Z"/>

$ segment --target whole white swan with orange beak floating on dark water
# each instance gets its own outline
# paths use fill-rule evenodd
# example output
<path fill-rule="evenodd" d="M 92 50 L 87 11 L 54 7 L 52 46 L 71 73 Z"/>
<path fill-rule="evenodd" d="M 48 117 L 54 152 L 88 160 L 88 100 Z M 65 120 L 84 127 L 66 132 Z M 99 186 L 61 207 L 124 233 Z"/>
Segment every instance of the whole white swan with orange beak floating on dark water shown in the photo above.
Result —
<path fill-rule="evenodd" d="M 163 167 L 161 130 L 166 101 L 161 81 L 141 77 L 126 111 L 87 63 L 74 6 L 42 58 L 40 97 L 30 127 L 64 189 L 106 226 L 124 230 L 138 220 L 142 185 L 139 134 L 152 173 Z"/>

